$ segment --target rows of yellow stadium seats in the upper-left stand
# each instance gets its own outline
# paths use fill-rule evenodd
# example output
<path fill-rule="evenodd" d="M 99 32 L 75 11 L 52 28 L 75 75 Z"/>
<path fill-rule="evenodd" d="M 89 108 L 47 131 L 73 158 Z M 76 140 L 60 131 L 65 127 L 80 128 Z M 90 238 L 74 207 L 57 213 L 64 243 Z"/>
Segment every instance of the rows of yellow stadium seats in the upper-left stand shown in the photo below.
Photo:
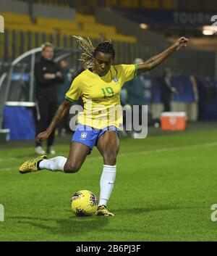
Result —
<path fill-rule="evenodd" d="M 76 13 L 75 20 L 36 17 L 35 23 L 33 23 L 28 15 L 18 15 L 12 12 L 2 12 L 1 14 L 5 17 L 5 30 L 8 34 L 7 38 L 9 38 L 7 59 L 14 59 L 23 51 L 41 46 L 45 40 L 51 41 L 54 46 L 70 48 L 72 44 L 74 46 L 72 36 L 83 36 L 93 41 L 98 41 L 102 36 L 106 40 L 111 39 L 124 43 L 137 41 L 134 36 L 118 33 L 115 26 L 98 23 L 93 15 Z M 14 40 L 16 46 L 12 47 Z M 2 45 L 5 44 L 4 41 L 1 39 Z"/>

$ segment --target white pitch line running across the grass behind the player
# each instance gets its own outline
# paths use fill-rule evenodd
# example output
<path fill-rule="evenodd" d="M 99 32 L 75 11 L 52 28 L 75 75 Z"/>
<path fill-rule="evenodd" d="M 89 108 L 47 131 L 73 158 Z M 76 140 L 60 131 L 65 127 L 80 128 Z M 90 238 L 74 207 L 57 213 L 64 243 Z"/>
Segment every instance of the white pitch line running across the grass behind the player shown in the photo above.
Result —
<path fill-rule="evenodd" d="M 179 151 L 179 150 L 184 150 L 184 149 L 192 149 L 192 148 L 198 148 L 198 147 L 209 147 L 209 146 L 217 146 L 217 141 L 216 142 L 210 142 L 210 143 L 204 143 L 204 144 L 195 144 L 195 145 L 189 145 L 189 146 L 175 146 L 175 147 L 166 147 L 163 149 L 153 149 L 153 150 L 145 150 L 145 151 L 137 151 L 137 152 L 127 152 L 127 153 L 122 153 L 122 154 L 118 154 L 118 157 L 126 157 L 126 156 L 130 156 L 133 154 L 152 154 L 152 153 L 163 153 L 163 152 L 173 152 L 173 151 Z M 61 154 L 61 153 L 60 153 Z M 14 161 L 14 160 L 18 160 L 19 158 L 7 158 L 7 161 Z M 102 159 L 102 157 L 91 157 L 88 158 L 88 160 L 99 160 Z M 0 162 L 3 162 L 3 160 L 5 161 L 5 159 L 0 158 Z M 13 170 L 14 168 L 0 168 L 1 170 Z"/>

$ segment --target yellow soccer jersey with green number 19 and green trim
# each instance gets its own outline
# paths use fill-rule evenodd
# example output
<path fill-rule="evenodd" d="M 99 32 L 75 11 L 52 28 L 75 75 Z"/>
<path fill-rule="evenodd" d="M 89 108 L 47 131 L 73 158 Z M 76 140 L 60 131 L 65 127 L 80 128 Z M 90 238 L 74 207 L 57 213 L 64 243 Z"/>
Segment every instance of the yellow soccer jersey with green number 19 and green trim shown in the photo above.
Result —
<path fill-rule="evenodd" d="M 78 123 L 103 129 L 110 125 L 122 125 L 120 93 L 125 82 L 137 75 L 137 65 L 111 65 L 104 76 L 85 70 L 73 80 L 65 98 L 70 102 L 82 97 L 84 112 L 77 117 Z"/>

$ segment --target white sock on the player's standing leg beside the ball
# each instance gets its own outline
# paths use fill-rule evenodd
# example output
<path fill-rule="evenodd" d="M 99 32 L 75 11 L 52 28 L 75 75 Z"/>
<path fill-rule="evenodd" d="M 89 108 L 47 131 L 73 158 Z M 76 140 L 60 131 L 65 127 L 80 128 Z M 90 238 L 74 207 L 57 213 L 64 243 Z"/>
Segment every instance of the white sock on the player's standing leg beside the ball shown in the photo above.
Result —
<path fill-rule="evenodd" d="M 103 165 L 103 173 L 101 175 L 101 194 L 98 205 L 107 205 L 114 187 L 116 177 L 116 165 Z"/>

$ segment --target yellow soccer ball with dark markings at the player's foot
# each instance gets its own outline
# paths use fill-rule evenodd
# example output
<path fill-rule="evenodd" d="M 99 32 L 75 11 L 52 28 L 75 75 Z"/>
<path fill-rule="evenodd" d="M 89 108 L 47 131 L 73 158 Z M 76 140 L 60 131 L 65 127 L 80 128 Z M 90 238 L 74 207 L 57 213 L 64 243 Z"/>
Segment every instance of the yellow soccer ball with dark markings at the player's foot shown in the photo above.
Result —
<path fill-rule="evenodd" d="M 71 199 L 72 212 L 77 216 L 93 215 L 98 206 L 95 194 L 88 190 L 80 190 L 76 192 Z"/>

